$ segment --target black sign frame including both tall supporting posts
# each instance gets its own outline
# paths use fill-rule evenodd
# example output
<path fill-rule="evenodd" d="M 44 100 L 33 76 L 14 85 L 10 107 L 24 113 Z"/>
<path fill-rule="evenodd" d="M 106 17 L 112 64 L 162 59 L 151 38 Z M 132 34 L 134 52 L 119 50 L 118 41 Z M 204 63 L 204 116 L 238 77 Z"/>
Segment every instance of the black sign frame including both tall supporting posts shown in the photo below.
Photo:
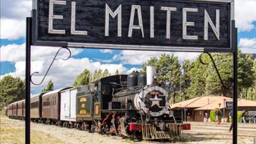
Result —
<path fill-rule="evenodd" d="M 33 10 L 31 11 L 31 17 L 26 18 L 26 144 L 30 143 L 30 94 L 31 94 L 31 45 L 50 46 L 50 47 L 62 47 L 62 48 L 106 48 L 104 45 L 69 45 L 68 42 L 48 42 L 39 41 L 37 39 L 37 1 L 33 0 Z M 167 0 L 161 0 L 167 1 Z M 178 1 L 178 0 L 170 0 Z M 227 52 L 233 53 L 233 143 L 237 143 L 237 103 L 238 103 L 238 29 L 235 26 L 234 18 L 234 0 L 179 0 L 179 1 L 195 1 L 195 2 L 223 2 L 229 3 L 230 10 L 230 48 L 187 48 L 187 47 L 175 47 L 175 48 L 132 48 L 129 45 L 125 47 L 112 47 L 107 49 L 121 49 L 121 50 L 165 50 L 165 51 L 183 51 L 183 52 Z M 120 45 L 117 45 L 120 46 Z M 123 45 L 124 46 L 124 45 Z M 53 60 L 54 61 L 54 60 Z"/>

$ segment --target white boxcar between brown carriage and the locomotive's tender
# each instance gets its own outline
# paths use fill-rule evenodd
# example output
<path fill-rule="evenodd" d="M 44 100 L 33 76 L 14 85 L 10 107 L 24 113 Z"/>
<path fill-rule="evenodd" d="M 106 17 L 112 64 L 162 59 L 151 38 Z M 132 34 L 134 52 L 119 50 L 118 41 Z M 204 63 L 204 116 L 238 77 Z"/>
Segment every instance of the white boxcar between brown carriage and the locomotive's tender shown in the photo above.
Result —
<path fill-rule="evenodd" d="M 77 88 L 61 91 L 61 121 L 75 121 Z"/>

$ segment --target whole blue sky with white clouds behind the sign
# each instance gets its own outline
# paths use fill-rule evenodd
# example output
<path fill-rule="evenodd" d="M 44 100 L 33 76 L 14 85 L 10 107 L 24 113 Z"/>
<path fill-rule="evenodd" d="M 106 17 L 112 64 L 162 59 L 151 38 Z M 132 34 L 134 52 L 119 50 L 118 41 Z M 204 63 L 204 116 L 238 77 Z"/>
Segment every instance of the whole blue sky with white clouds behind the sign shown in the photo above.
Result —
<path fill-rule="evenodd" d="M 236 0 L 236 26 L 238 27 L 239 47 L 244 53 L 256 53 L 256 1 Z M 24 78 L 25 75 L 25 20 L 30 15 L 31 0 L 1 0 L 1 49 L 0 75 L 13 75 Z M 238 7 L 239 6 L 239 7 Z M 35 82 L 42 80 L 57 48 L 32 47 L 31 72 L 39 72 L 32 77 Z M 72 49 L 72 58 L 67 61 L 63 50 L 50 69 L 48 77 L 40 86 L 32 86 L 33 94 L 39 93 L 51 79 L 55 88 L 71 86 L 75 77 L 89 69 L 108 69 L 110 72 L 127 74 L 140 69 L 140 64 L 151 56 L 160 56 L 163 52 L 132 50 Z M 174 53 L 180 60 L 191 60 L 198 53 Z"/>

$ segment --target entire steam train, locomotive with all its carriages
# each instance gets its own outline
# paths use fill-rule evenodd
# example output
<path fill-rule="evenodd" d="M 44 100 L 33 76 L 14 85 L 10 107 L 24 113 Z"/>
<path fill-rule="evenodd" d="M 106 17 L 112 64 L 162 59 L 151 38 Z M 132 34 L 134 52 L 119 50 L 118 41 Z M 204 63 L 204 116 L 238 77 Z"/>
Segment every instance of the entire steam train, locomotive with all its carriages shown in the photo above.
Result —
<path fill-rule="evenodd" d="M 87 86 L 31 96 L 31 121 L 87 129 L 144 140 L 173 140 L 181 135 L 169 96 L 157 83 L 154 67 L 146 73 L 104 77 Z M 23 119 L 25 101 L 7 106 L 7 116 Z"/>

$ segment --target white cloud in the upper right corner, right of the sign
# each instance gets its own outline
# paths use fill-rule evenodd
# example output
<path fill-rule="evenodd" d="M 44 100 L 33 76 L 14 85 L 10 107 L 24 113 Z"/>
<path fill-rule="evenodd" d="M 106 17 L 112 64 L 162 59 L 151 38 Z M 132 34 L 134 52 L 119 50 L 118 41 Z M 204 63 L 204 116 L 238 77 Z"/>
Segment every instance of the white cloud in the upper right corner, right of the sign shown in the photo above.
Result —
<path fill-rule="evenodd" d="M 239 31 L 251 31 L 255 29 L 253 25 L 253 22 L 256 21 L 255 7 L 255 0 L 235 1 L 236 26 L 238 26 Z"/>

